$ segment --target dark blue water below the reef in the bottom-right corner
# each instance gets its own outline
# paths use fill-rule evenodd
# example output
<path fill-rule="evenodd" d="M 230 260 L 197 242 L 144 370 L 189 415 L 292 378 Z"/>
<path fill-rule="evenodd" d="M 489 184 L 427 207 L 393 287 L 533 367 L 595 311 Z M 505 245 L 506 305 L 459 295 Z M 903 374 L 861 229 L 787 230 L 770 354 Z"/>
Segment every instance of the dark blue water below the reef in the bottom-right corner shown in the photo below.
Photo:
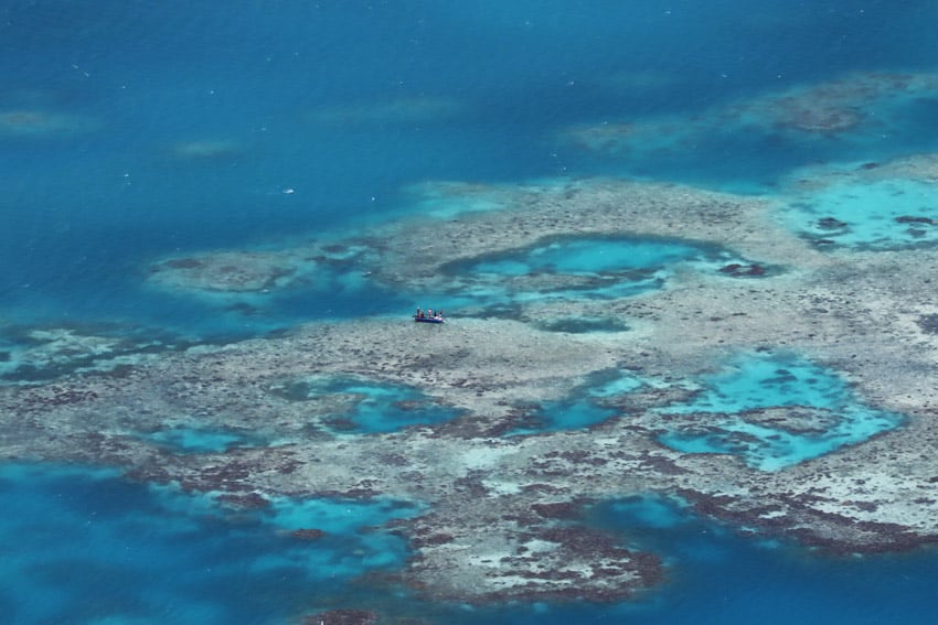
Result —
<path fill-rule="evenodd" d="M 660 593 L 607 610 L 609 623 L 904 623 L 927 622 L 934 608 L 934 552 L 816 556 L 734 535 L 653 497 L 600 504 L 588 516 L 662 553 L 668 570 Z"/>

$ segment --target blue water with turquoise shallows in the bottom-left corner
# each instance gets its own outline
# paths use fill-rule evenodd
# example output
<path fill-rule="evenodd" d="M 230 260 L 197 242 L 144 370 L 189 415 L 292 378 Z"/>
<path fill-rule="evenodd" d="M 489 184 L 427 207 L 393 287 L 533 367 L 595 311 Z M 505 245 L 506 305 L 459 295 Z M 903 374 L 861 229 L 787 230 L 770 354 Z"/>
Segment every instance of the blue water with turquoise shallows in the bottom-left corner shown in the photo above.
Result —
<path fill-rule="evenodd" d="M 0 522 L 11 624 L 286 622 L 399 565 L 405 542 L 370 528 L 419 509 L 315 499 L 225 513 L 113 472 L 17 464 L 0 470 L 0 502 L 15 510 Z"/>

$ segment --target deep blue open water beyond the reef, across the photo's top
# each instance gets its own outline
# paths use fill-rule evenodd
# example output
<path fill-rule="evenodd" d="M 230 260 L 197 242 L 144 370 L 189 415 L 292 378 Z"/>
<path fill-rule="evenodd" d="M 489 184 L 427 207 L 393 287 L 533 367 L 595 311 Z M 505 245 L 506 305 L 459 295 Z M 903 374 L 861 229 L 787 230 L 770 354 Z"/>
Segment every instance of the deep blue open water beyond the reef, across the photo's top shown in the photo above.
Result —
<path fill-rule="evenodd" d="M 639 166 L 664 180 L 770 181 L 835 158 L 836 147 L 822 155 L 813 146 L 766 149 L 768 139 L 715 129 L 712 146 L 632 165 L 596 162 L 554 137 L 574 122 L 690 115 L 850 71 L 932 67 L 925 24 L 934 12 L 926 2 L 898 10 L 855 0 L 824 11 L 780 0 L 591 10 L 292 1 L 276 11 L 17 2 L 0 26 L 11 60 L 0 110 L 61 116 L 75 129 L 50 122 L 30 136 L 0 133 L 4 314 L 198 334 L 335 314 L 320 298 L 284 302 L 257 321 L 139 283 L 162 255 L 352 224 L 394 208 L 404 186 L 425 180 L 628 175 Z M 633 88 L 630 76 L 665 79 Z M 418 103 L 414 112 L 407 101 Z M 342 107 L 360 112 L 327 115 Z M 917 120 L 916 141 L 934 136 L 919 126 L 928 119 Z M 180 144 L 211 141 L 231 149 L 177 154 Z M 390 312 L 396 302 L 348 303 Z M 200 323 L 209 314 L 214 323 Z"/>

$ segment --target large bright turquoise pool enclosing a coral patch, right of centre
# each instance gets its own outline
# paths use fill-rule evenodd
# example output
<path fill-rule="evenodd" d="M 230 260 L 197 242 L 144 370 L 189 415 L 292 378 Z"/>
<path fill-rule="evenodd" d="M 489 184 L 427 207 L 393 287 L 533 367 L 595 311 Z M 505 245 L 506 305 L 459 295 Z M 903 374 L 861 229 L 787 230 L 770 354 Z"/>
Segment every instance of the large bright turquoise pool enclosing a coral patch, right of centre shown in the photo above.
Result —
<path fill-rule="evenodd" d="M 833 371 L 788 354 L 739 357 L 705 377 L 691 401 L 661 413 L 684 417 L 659 438 L 663 444 L 739 455 L 763 471 L 866 441 L 903 421 L 863 405 Z"/>

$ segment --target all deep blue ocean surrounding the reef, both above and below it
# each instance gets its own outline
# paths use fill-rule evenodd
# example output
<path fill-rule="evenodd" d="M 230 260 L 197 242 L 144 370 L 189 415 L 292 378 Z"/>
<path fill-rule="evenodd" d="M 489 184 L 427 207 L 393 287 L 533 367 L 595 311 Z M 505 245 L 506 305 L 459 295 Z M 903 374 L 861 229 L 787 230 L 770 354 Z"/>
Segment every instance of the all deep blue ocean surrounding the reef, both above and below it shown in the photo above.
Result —
<path fill-rule="evenodd" d="M 618 175 L 770 194 L 799 166 L 936 151 L 928 98 L 875 142 L 717 128 L 638 159 L 558 139 L 854 73 L 935 72 L 936 26 L 932 0 L 9 0 L 0 332 L 198 341 L 411 310 L 350 290 L 275 297 L 245 316 L 145 278 L 167 256 L 289 245 L 413 211 L 407 190 L 428 181 Z M 7 623 L 279 623 L 323 606 L 454 623 L 925 623 L 938 603 L 934 553 L 822 558 L 653 506 L 610 504 L 593 520 L 660 546 L 672 562 L 660 592 L 480 613 L 349 582 L 406 558 L 392 538 L 312 558 L 266 517 L 225 518 L 93 467 L 9 465 L 0 500 L 18 510 L 0 519 Z M 337 527 L 354 534 L 355 519 L 385 513 L 403 514 L 355 511 Z M 323 562 L 340 571 L 328 582 Z"/>

